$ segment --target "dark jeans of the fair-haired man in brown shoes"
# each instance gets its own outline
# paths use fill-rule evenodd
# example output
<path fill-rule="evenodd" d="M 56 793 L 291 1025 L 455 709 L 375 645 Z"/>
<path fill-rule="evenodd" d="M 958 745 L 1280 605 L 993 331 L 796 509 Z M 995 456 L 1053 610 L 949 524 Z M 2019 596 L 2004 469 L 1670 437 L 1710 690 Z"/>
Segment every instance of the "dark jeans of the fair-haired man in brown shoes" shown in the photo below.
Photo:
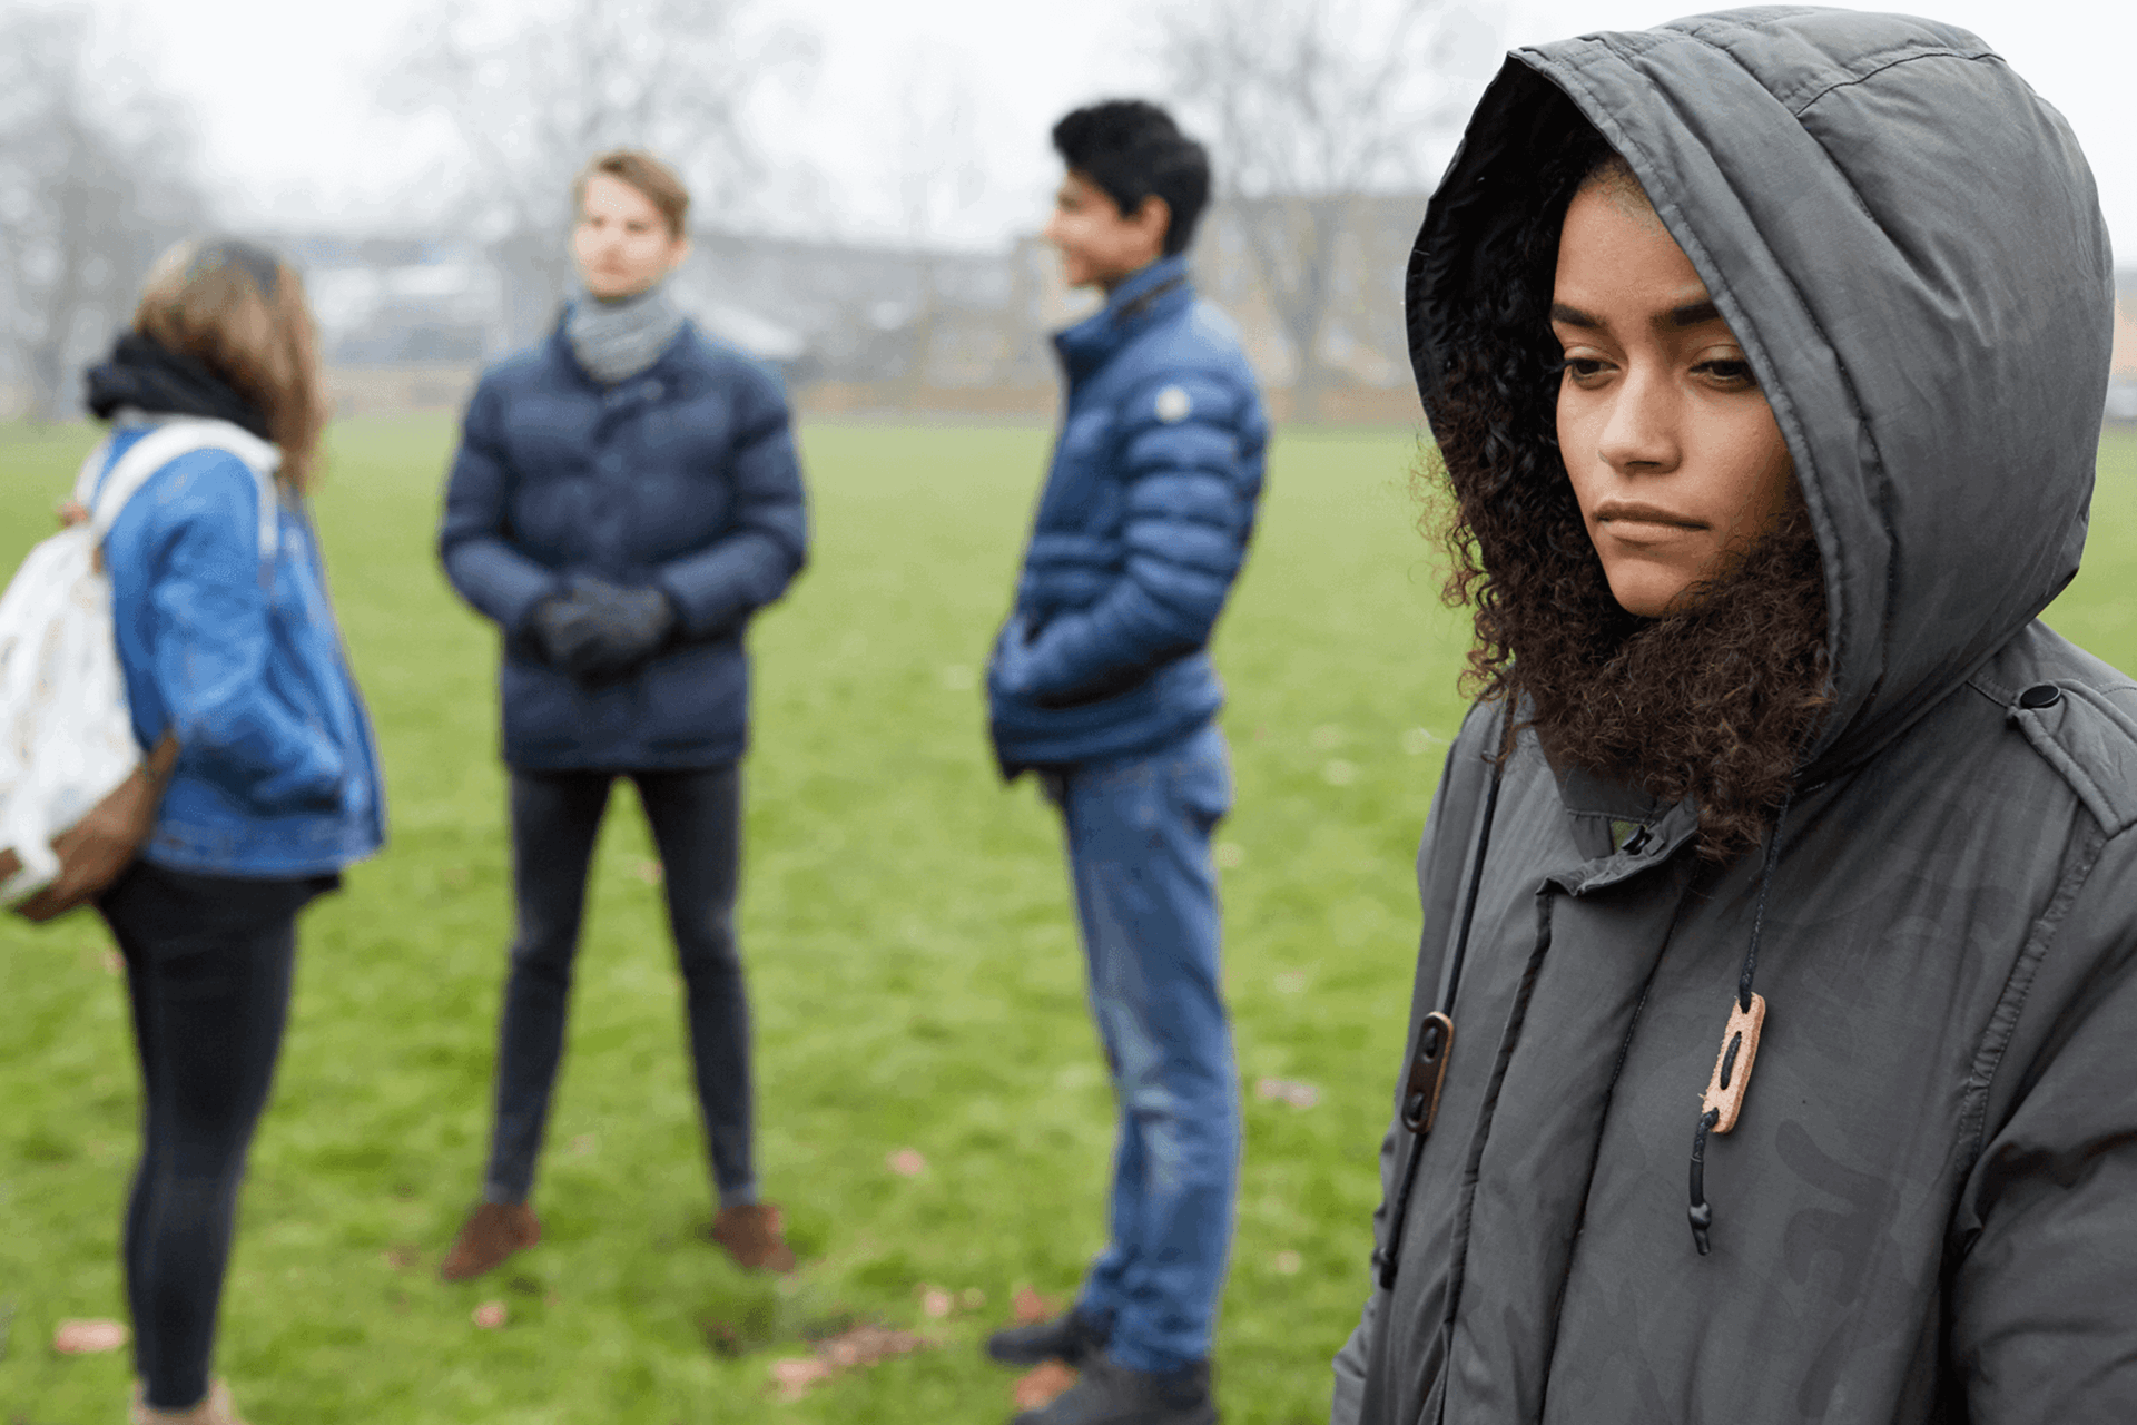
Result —
<path fill-rule="evenodd" d="M 752 1201 L 750 1004 L 735 951 L 742 773 L 735 763 L 686 771 L 513 769 L 513 893 L 519 931 L 504 981 L 498 1105 L 483 1199 L 521 1203 L 564 1055 L 571 961 L 586 912 L 586 865 L 609 803 L 630 778 L 660 848 L 669 929 L 682 966 L 697 1102 L 720 1201 Z"/>

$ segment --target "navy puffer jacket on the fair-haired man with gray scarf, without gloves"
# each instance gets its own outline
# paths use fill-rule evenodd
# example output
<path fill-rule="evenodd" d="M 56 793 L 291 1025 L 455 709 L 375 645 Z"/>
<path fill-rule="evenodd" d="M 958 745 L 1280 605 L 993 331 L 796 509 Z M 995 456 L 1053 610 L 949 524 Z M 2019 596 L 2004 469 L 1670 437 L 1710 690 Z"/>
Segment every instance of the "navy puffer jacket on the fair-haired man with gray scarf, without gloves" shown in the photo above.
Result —
<path fill-rule="evenodd" d="M 524 769 L 712 767 L 748 746 L 750 615 L 808 555 L 786 397 L 684 327 L 603 387 L 562 331 L 483 374 L 438 534 L 444 573 L 498 622 L 504 761 Z M 609 682 L 549 667 L 528 613 L 568 575 L 660 588 L 675 635 Z"/>

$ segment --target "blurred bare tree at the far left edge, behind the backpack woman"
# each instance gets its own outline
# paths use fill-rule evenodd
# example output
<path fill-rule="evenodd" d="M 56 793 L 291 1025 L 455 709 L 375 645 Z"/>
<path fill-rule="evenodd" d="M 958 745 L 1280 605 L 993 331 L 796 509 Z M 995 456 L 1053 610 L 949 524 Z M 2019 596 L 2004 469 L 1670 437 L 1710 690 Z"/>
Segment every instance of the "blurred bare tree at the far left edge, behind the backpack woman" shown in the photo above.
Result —
<path fill-rule="evenodd" d="M 90 41 L 83 9 L 0 6 L 0 355 L 38 417 L 207 214 L 186 115 Z"/>

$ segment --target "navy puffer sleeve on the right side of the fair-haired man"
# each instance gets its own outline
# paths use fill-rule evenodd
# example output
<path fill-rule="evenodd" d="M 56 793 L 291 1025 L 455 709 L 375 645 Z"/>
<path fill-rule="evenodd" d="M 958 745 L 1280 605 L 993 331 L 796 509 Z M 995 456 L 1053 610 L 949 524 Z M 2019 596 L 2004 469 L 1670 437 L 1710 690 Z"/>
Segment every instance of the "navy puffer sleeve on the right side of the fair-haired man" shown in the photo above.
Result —
<path fill-rule="evenodd" d="M 784 594 L 808 562 L 808 498 L 786 397 L 767 374 L 742 370 L 735 382 L 737 436 L 727 461 L 733 528 L 707 549 L 654 573 L 675 602 L 686 639 L 735 630 Z"/>

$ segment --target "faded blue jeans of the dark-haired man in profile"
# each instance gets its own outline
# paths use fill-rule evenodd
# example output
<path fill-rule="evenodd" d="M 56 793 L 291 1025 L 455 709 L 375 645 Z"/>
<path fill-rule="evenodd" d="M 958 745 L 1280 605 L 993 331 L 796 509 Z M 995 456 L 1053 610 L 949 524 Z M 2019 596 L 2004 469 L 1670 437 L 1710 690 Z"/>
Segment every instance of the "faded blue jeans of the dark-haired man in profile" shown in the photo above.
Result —
<path fill-rule="evenodd" d="M 1171 1372 L 1210 1357 L 1239 1175 L 1239 1072 L 1218 976 L 1210 833 L 1231 810 L 1225 735 L 1049 778 L 1068 835 L 1090 1008 L 1120 1098 L 1111 1241 L 1077 1310 L 1109 1352 Z"/>

